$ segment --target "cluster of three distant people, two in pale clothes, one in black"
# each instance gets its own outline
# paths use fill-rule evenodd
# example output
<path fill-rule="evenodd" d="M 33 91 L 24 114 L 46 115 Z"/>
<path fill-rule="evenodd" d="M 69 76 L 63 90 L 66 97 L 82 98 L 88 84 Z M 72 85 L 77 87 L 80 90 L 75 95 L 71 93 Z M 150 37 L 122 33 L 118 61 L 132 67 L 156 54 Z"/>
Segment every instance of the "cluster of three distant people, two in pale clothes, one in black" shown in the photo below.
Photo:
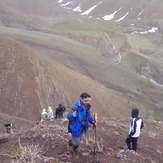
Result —
<path fill-rule="evenodd" d="M 48 107 L 47 111 L 46 109 L 42 109 L 41 122 L 44 121 L 45 119 L 50 119 L 51 121 L 54 120 L 54 118 L 61 119 L 63 118 L 63 114 L 65 111 L 66 111 L 66 108 L 62 104 L 59 104 L 55 108 L 55 112 L 53 111 L 51 106 Z"/>

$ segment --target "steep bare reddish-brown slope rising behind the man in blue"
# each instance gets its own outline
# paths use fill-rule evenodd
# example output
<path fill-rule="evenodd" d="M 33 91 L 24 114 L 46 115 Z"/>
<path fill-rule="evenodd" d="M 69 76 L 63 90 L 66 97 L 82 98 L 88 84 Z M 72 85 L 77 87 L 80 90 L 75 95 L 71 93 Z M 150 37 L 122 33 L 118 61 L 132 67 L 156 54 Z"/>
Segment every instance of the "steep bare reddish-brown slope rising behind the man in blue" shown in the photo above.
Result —
<path fill-rule="evenodd" d="M 54 108 L 60 102 L 70 107 L 81 92 L 87 91 L 92 95 L 94 111 L 109 117 L 126 116 L 128 100 L 90 77 L 14 39 L 1 38 L 0 47 L 1 113 L 38 120 L 42 108 L 49 105 Z"/>

